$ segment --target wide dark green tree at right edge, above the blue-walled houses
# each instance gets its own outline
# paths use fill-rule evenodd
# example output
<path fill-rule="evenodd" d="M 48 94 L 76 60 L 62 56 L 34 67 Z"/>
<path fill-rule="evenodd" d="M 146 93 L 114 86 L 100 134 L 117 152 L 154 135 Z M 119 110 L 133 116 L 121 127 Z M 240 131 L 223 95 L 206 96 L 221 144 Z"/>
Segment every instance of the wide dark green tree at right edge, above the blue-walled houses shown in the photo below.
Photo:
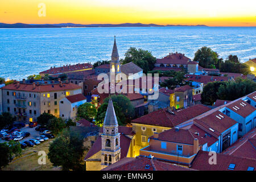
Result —
<path fill-rule="evenodd" d="M 236 81 L 220 85 L 217 96 L 221 100 L 233 101 L 256 90 L 256 83 L 249 79 L 237 78 Z"/>

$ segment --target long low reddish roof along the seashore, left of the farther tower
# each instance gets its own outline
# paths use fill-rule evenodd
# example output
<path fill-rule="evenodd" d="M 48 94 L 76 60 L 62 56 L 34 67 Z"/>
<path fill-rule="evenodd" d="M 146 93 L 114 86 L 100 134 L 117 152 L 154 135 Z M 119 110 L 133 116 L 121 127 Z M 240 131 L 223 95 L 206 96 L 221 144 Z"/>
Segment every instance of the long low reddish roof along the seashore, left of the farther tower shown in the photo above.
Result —
<path fill-rule="evenodd" d="M 75 65 L 65 65 L 64 67 L 51 68 L 46 71 L 40 72 L 44 74 L 58 74 L 70 71 L 79 71 L 81 69 L 92 69 L 93 65 L 89 63 L 75 64 Z"/>

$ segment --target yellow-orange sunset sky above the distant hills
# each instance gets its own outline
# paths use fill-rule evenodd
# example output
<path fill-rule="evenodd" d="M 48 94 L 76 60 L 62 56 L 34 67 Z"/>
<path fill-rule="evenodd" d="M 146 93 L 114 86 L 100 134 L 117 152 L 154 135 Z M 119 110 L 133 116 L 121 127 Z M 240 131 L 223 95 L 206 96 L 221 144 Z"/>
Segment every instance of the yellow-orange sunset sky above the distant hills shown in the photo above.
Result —
<path fill-rule="evenodd" d="M 39 4 L 46 16 L 39 16 Z M 1 23 L 256 26 L 255 0 L 0 0 Z"/>

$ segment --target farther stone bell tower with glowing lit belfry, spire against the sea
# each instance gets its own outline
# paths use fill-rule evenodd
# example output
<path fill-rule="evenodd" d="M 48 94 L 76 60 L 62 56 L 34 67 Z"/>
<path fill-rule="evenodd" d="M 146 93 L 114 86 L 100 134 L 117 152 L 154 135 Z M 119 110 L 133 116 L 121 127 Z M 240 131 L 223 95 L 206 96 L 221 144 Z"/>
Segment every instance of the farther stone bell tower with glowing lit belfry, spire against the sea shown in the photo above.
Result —
<path fill-rule="evenodd" d="M 119 55 L 117 50 L 117 43 L 114 39 L 114 46 L 112 50 L 112 56 L 110 61 L 110 81 L 112 82 L 119 82 L 121 79 L 118 78 L 118 73 L 121 73 L 121 64 L 119 61 Z"/>

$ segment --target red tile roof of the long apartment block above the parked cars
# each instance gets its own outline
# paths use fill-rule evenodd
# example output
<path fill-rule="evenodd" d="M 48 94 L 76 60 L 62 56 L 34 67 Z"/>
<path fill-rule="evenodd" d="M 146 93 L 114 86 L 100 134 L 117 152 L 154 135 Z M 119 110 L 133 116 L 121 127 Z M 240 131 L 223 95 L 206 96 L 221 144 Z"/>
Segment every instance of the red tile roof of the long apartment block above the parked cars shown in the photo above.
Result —
<path fill-rule="evenodd" d="M 2 87 L 2 89 L 9 89 L 9 90 L 20 90 L 20 91 L 27 91 L 27 92 L 56 92 L 61 90 L 75 90 L 81 89 L 81 86 L 72 84 L 72 83 L 65 83 L 63 82 L 62 86 L 60 86 L 59 82 L 55 82 L 54 84 L 35 84 L 35 89 L 33 88 L 33 84 L 22 84 L 18 86 L 16 84 L 9 84 L 7 86 Z"/>

